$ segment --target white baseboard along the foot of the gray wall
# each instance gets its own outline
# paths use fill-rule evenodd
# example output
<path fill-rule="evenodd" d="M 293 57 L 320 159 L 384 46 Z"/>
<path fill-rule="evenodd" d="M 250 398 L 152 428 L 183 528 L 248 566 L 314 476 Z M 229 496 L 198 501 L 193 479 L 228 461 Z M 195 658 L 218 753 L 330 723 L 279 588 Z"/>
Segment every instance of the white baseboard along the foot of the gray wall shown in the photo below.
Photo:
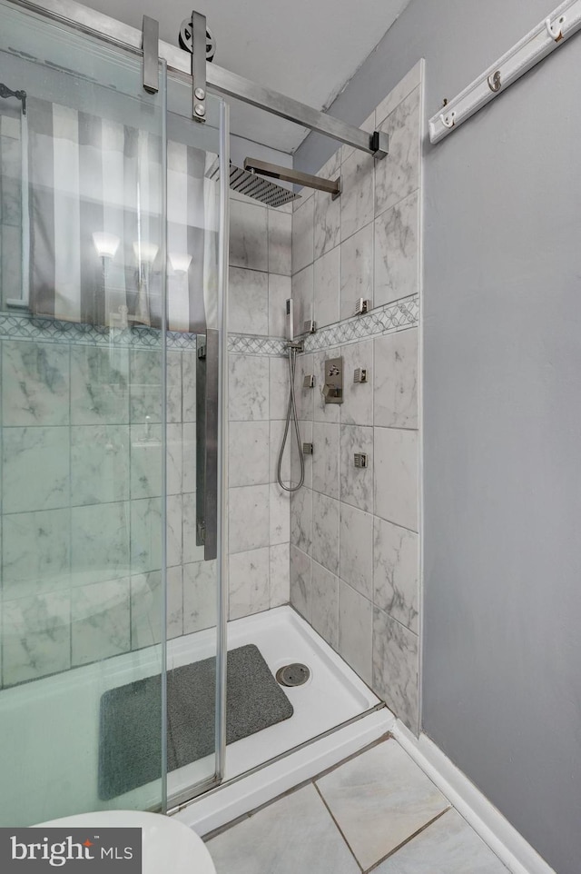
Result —
<path fill-rule="evenodd" d="M 399 720 L 391 732 L 512 874 L 556 874 L 432 740 L 414 737 Z"/>

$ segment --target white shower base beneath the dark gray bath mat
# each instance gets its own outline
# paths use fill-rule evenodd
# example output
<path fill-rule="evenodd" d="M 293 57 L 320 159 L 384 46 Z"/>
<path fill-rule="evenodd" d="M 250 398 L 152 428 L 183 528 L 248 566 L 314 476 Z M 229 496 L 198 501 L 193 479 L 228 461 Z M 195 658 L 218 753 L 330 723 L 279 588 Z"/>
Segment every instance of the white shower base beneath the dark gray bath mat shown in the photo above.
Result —
<path fill-rule="evenodd" d="M 224 781 L 236 780 L 379 704 L 291 607 L 230 622 L 228 648 L 245 643 L 258 646 L 273 672 L 301 661 L 310 667 L 311 677 L 304 686 L 286 690 L 294 707 L 290 720 L 228 747 Z M 168 644 L 168 669 L 214 653 L 215 631 L 178 638 Z M 160 780 L 103 802 L 97 795 L 97 769 L 103 692 L 151 676 L 160 665 L 161 647 L 156 646 L 3 690 L 0 822 L 17 825 L 96 809 L 158 806 Z M 389 713 L 382 712 L 384 718 Z M 168 794 L 187 790 L 213 770 L 213 757 L 208 757 L 172 771 Z"/>

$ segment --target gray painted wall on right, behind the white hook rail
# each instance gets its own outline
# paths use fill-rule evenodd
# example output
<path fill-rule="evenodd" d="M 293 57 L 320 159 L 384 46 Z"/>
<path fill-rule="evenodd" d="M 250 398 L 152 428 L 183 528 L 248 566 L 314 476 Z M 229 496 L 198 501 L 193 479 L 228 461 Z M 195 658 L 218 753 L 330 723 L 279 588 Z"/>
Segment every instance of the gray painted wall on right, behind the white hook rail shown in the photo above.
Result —
<path fill-rule="evenodd" d="M 412 0 L 330 112 L 360 124 L 424 56 L 434 114 L 552 6 Z M 423 725 L 558 874 L 581 857 L 580 61 L 577 35 L 424 164 Z"/>

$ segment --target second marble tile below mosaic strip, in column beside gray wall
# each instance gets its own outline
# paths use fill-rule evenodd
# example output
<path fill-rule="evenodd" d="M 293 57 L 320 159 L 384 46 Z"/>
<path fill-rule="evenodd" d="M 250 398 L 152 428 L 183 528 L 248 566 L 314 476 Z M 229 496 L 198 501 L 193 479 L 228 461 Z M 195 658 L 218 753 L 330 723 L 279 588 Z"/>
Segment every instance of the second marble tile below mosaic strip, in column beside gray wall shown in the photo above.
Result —
<path fill-rule="evenodd" d="M 374 428 L 375 514 L 418 531 L 418 432 Z"/>

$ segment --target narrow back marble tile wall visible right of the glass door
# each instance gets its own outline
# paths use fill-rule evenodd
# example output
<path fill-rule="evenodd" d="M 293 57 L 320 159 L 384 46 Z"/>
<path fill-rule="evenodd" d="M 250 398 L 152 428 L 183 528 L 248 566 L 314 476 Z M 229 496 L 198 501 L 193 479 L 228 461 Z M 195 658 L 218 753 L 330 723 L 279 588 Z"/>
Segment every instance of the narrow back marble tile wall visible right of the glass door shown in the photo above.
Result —
<path fill-rule="evenodd" d="M 290 498 L 276 481 L 289 392 L 282 348 L 291 297 L 291 204 L 231 192 L 229 331 L 229 619 L 290 600 Z M 238 335 L 238 336 L 237 336 Z M 244 350 L 240 353 L 243 341 Z M 282 479 L 291 476 L 287 446 Z"/>

